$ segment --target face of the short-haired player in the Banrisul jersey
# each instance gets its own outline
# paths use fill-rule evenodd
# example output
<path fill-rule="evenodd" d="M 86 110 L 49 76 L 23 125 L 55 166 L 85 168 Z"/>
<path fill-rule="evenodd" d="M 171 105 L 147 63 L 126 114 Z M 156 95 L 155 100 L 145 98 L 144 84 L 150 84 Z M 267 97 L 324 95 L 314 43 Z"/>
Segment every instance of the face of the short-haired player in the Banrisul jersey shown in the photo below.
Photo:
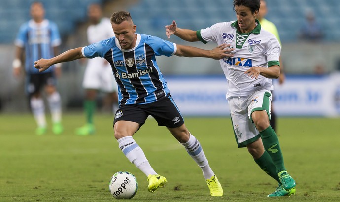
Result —
<path fill-rule="evenodd" d="M 135 47 L 137 40 L 136 25 L 132 21 L 125 20 L 120 24 L 112 23 L 112 28 L 123 49 L 129 50 Z"/>

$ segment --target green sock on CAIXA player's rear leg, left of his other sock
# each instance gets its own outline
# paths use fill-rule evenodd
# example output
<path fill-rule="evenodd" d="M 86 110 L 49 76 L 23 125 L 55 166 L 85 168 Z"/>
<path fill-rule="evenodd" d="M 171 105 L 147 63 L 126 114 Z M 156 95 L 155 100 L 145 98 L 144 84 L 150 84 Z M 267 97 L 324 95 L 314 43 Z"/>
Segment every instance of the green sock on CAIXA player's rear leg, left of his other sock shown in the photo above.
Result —
<path fill-rule="evenodd" d="M 281 183 L 280 178 L 278 177 L 276 172 L 276 166 L 267 151 L 265 151 L 259 159 L 254 159 L 254 161 L 269 176 L 274 178 L 278 183 Z"/>

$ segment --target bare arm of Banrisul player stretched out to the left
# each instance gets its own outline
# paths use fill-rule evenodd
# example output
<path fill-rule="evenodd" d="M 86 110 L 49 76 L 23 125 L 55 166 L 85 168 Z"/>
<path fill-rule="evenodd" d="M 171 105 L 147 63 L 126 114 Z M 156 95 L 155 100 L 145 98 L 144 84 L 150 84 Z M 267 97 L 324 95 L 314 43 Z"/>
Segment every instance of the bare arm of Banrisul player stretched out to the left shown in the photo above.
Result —
<path fill-rule="evenodd" d="M 48 67 L 50 67 L 51 65 L 83 58 L 84 56 L 81 53 L 81 49 L 81 47 L 70 49 L 51 59 L 41 58 L 40 60 L 34 62 L 34 67 L 39 69 L 39 72 L 41 72 L 48 69 Z"/>

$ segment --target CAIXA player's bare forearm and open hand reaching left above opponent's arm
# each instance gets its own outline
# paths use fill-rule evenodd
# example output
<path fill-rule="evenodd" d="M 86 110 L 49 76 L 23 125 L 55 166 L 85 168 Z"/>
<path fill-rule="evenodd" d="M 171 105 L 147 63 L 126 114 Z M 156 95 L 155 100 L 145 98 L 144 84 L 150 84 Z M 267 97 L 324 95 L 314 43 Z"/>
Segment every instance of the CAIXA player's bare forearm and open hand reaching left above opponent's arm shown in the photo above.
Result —
<path fill-rule="evenodd" d="M 172 21 L 171 25 L 165 26 L 165 34 L 167 35 L 168 38 L 170 38 L 170 35 L 174 34 L 186 41 L 190 42 L 199 41 L 196 35 L 196 31 L 189 29 L 181 29 L 177 27 L 176 21 Z"/>

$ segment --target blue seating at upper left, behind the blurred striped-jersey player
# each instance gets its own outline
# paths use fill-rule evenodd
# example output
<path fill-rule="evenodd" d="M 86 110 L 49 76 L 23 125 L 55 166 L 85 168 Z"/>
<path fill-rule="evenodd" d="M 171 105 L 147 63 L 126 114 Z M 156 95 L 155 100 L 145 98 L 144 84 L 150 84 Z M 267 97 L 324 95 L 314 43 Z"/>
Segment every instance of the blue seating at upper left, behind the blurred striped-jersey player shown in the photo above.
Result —
<path fill-rule="evenodd" d="M 34 0 L 0 0 L 0 43 L 13 43 L 22 23 L 30 19 L 30 5 Z M 87 20 L 90 3 L 105 0 L 39 0 L 46 9 L 46 18 L 57 23 L 63 36 L 71 34 L 79 22 Z"/>

